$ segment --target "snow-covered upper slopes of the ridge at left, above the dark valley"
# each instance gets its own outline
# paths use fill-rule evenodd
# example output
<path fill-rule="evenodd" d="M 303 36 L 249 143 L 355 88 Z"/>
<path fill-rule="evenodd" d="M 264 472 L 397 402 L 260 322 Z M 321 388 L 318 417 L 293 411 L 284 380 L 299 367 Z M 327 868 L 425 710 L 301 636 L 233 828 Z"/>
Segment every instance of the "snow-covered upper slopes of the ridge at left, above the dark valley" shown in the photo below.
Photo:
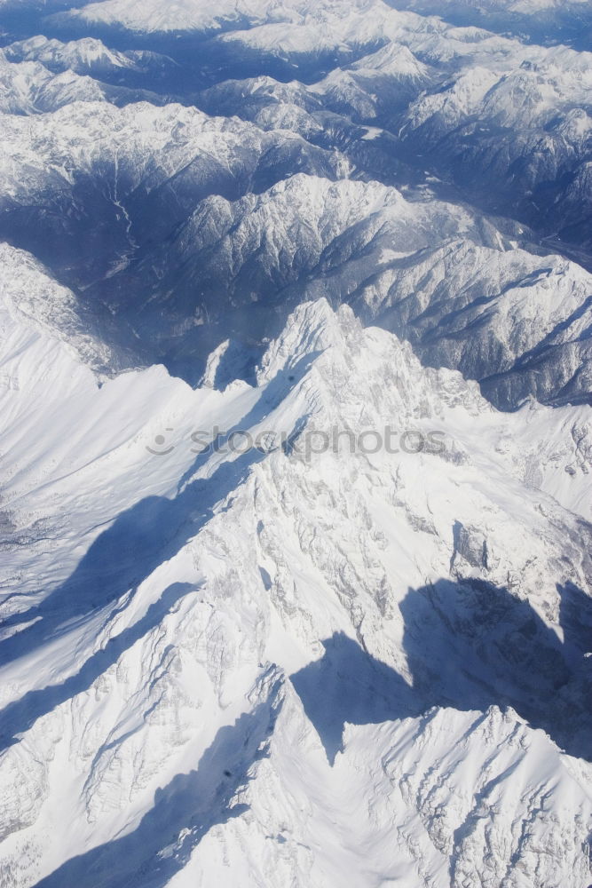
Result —
<path fill-rule="evenodd" d="M 51 194 L 53 177 L 61 179 L 63 188 L 76 176 L 93 171 L 105 175 L 106 167 L 120 176 L 117 184 L 122 198 L 140 182 L 150 194 L 167 179 L 189 170 L 192 163 L 200 183 L 207 188 L 209 178 L 219 186 L 222 175 L 238 178 L 239 172 L 252 169 L 261 155 L 286 140 L 250 123 L 210 117 L 196 108 L 154 107 L 147 102 L 123 108 L 73 102 L 53 115 L 7 115 L 3 124 L 3 195 L 22 195 L 23 200 L 34 198 L 42 189 Z M 292 140 L 302 142 L 296 134 Z M 343 168 L 339 157 L 320 149 L 315 152 L 314 147 L 310 151 L 323 158 L 328 170 Z"/>

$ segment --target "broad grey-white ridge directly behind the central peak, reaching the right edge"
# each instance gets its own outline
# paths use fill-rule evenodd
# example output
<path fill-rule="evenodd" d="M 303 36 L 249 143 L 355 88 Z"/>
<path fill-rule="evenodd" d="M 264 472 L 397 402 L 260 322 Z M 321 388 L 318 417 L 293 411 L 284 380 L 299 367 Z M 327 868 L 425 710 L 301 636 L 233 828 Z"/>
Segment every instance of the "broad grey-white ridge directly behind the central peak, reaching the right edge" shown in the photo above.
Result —
<path fill-rule="evenodd" d="M 179 313 L 198 274 L 204 317 L 219 311 L 221 284 L 235 303 L 271 291 L 292 301 L 323 295 L 408 337 L 428 363 L 482 381 L 498 404 L 585 398 L 592 277 L 515 246 L 454 204 L 296 175 L 238 202 L 202 202 L 150 266 Z M 147 327 L 158 308 L 148 306 Z"/>

